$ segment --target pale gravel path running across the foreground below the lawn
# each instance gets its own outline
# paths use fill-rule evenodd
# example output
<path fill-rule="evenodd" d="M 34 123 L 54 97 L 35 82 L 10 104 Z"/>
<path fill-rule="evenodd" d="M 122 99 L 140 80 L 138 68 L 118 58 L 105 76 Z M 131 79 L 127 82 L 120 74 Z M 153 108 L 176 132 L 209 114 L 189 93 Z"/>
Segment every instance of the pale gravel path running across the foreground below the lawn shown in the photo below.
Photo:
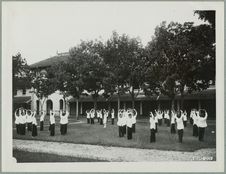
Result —
<path fill-rule="evenodd" d="M 16 139 L 13 140 L 13 148 L 115 162 L 216 160 L 215 148 L 179 152 Z"/>

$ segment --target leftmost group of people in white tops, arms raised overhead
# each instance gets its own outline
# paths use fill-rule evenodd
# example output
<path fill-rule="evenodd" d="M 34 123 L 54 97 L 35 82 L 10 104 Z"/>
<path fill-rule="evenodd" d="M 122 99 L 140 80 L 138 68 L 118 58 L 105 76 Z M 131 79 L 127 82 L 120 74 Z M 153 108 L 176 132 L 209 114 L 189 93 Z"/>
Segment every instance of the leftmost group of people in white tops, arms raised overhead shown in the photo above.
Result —
<path fill-rule="evenodd" d="M 38 135 L 37 132 L 37 119 L 36 119 L 36 111 L 31 111 L 23 108 L 18 108 L 15 111 L 15 125 L 16 132 L 19 135 L 26 134 L 26 127 L 28 132 L 32 132 L 32 137 Z M 44 130 L 44 120 L 45 120 L 46 112 L 42 111 L 40 116 L 40 131 Z M 49 132 L 50 136 L 55 135 L 55 116 L 56 112 L 50 110 L 50 119 L 49 119 Z M 65 135 L 67 133 L 67 124 L 68 124 L 68 116 L 69 113 L 60 111 L 60 133 L 61 135 Z"/>

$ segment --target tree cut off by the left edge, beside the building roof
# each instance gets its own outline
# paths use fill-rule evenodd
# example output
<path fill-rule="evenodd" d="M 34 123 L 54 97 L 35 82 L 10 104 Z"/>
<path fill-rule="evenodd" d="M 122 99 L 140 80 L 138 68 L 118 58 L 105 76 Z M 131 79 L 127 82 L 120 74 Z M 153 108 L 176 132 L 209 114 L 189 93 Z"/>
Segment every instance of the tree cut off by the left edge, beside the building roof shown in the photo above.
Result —
<path fill-rule="evenodd" d="M 13 59 L 13 94 L 18 89 L 27 89 L 31 87 L 30 68 L 26 59 L 22 58 L 20 53 L 12 56 Z"/>

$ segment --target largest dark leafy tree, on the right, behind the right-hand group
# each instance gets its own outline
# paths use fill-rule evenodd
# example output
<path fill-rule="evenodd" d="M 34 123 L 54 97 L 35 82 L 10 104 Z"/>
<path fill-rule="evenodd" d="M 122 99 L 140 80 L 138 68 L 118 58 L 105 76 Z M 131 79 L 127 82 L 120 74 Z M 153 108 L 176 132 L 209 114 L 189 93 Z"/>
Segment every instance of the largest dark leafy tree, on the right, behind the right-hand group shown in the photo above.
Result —
<path fill-rule="evenodd" d="M 167 89 L 160 85 L 160 91 L 171 100 L 175 92 L 181 94 L 182 109 L 185 88 L 188 92 L 204 90 L 215 81 L 215 51 L 212 40 L 208 38 L 210 34 L 208 25 L 193 26 L 190 22 L 166 25 L 163 22 L 156 28 L 155 37 L 147 47 L 148 56 L 160 70 L 159 82 L 170 86 Z M 206 67 L 211 69 L 210 73 L 204 73 Z M 175 85 L 172 85 L 172 80 Z"/>

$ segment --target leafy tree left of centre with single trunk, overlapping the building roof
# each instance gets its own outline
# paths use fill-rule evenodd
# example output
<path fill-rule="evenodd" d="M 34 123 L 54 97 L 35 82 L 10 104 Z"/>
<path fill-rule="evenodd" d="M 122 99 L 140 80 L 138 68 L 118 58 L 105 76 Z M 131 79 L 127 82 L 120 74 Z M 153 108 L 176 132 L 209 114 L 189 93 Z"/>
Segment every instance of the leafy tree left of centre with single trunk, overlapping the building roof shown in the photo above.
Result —
<path fill-rule="evenodd" d="M 105 64 L 100 56 L 102 43 L 100 41 L 82 41 L 77 47 L 70 50 L 70 56 L 79 83 L 84 92 L 91 94 L 94 101 L 94 109 L 97 108 L 97 98 L 103 89 L 103 77 L 105 76 Z M 80 90 L 81 91 L 81 90 Z"/>

